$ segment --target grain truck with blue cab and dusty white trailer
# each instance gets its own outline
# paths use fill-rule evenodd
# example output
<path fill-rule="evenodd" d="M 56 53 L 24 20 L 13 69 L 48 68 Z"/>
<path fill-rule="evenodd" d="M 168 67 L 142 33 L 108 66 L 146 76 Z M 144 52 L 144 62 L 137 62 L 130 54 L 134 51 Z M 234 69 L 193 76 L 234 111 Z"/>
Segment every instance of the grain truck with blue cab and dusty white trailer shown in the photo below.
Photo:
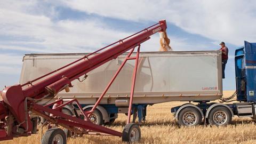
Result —
<path fill-rule="evenodd" d="M 171 108 L 179 125 L 193 126 L 202 123 L 227 125 L 232 117 L 255 118 L 253 52 L 254 43 L 245 42 L 235 52 L 236 92 L 230 98 L 222 98 L 222 63 L 220 51 L 172 51 L 141 52 L 133 107 L 169 101 L 188 101 Z M 135 53 L 133 53 L 134 55 Z M 54 69 L 58 69 L 86 53 L 26 54 L 23 57 L 20 83 L 30 81 Z M 69 93 L 61 92 L 56 98 L 76 98 L 83 109 L 91 109 L 100 97 L 115 71 L 125 59 L 120 55 L 101 67 L 78 78 Z M 93 57 L 93 55 L 91 55 Z M 246 63 L 247 62 L 247 63 Z M 256 63 L 256 62 L 255 62 Z M 256 67 L 256 66 L 255 66 Z M 91 121 L 95 124 L 113 123 L 118 113 L 127 114 L 134 61 L 129 61 L 116 77 L 101 103 L 94 111 Z M 249 81 L 248 81 L 249 79 Z M 237 94 L 237 103 L 228 102 Z M 40 103 L 52 102 L 44 99 Z M 195 104 L 197 103 L 197 104 Z M 70 107 L 66 107 L 72 113 Z"/>

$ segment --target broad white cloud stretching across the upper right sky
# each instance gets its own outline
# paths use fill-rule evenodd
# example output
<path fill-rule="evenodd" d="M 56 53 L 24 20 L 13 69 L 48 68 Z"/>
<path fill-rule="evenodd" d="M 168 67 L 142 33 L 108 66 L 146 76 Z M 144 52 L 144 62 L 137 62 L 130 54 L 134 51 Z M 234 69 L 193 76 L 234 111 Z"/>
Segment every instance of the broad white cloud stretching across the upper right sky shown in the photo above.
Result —
<path fill-rule="evenodd" d="M 63 2 L 63 1 L 60 1 Z M 83 1 L 68 0 L 71 9 L 131 21 L 166 19 L 178 27 L 217 41 L 241 45 L 256 39 L 256 1 Z"/>

